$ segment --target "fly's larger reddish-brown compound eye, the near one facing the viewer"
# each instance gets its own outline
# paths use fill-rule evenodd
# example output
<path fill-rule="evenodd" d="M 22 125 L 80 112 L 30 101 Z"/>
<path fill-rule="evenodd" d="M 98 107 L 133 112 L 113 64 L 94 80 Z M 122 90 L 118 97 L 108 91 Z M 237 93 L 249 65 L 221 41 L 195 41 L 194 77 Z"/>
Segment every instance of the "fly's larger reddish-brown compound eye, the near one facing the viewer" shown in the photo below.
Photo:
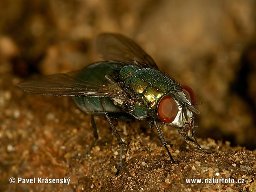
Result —
<path fill-rule="evenodd" d="M 169 95 L 164 96 L 157 106 L 157 115 L 164 123 L 171 123 L 178 113 L 178 105 Z"/>

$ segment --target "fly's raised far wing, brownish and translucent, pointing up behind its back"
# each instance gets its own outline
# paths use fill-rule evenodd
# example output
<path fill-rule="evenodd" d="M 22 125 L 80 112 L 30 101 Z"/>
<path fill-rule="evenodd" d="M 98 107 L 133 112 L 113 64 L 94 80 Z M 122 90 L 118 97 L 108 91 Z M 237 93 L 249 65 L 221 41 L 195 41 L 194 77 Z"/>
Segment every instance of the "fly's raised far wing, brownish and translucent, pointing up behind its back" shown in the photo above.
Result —
<path fill-rule="evenodd" d="M 103 60 L 121 61 L 128 65 L 141 65 L 142 67 L 149 65 L 159 70 L 154 60 L 140 46 L 121 34 L 103 33 L 99 35 L 95 41 L 95 50 Z"/>

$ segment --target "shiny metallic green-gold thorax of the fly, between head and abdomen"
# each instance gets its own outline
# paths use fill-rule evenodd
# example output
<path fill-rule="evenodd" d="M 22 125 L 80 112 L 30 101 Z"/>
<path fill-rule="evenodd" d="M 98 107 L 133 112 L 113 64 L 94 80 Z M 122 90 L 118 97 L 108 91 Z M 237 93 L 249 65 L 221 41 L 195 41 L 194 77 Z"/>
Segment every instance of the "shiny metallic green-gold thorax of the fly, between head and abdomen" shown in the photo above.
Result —
<path fill-rule="evenodd" d="M 124 66 L 120 70 L 120 76 L 125 87 L 137 98 L 133 115 L 138 119 L 155 116 L 158 101 L 176 86 L 175 81 L 154 68 Z"/>

